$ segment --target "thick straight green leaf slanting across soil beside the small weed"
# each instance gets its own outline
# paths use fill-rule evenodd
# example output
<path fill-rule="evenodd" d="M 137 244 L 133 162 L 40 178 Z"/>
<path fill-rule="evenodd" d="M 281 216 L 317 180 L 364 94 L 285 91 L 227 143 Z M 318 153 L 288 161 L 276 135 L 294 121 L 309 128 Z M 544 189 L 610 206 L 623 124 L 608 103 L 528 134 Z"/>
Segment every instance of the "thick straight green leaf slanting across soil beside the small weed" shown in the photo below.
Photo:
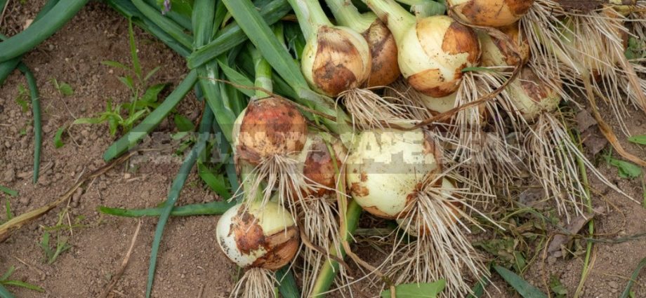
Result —
<path fill-rule="evenodd" d="M 171 110 L 182 100 L 185 95 L 191 90 L 195 82 L 197 81 L 197 72 L 192 70 L 184 78 L 184 80 L 177 86 L 175 90 L 166 100 L 159 104 L 157 109 L 154 109 L 146 118 L 141 121 L 137 126 L 135 126 L 131 131 L 126 133 L 123 137 L 119 138 L 116 142 L 112 143 L 110 147 L 105 150 L 103 154 L 103 159 L 105 161 L 110 161 L 112 158 L 119 156 L 128 148 L 132 147 L 134 144 L 145 137 L 150 131 L 155 128 L 159 123 L 168 116 Z"/>

